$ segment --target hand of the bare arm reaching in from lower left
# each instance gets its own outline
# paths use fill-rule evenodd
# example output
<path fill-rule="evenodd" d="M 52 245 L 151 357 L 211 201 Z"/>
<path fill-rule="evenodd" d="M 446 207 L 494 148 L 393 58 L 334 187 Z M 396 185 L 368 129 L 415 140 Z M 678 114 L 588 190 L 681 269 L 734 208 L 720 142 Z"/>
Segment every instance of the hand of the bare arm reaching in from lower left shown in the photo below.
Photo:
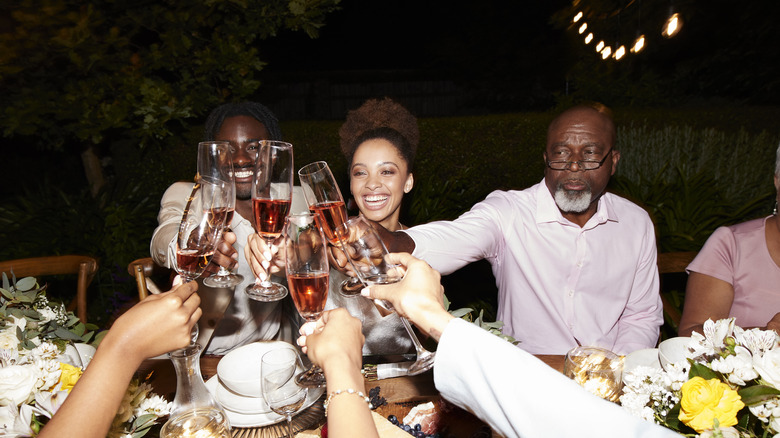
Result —
<path fill-rule="evenodd" d="M 117 344 L 128 358 L 158 356 L 190 343 L 192 326 L 202 311 L 198 283 L 191 281 L 158 295 L 149 295 L 122 314 L 103 343 Z"/>

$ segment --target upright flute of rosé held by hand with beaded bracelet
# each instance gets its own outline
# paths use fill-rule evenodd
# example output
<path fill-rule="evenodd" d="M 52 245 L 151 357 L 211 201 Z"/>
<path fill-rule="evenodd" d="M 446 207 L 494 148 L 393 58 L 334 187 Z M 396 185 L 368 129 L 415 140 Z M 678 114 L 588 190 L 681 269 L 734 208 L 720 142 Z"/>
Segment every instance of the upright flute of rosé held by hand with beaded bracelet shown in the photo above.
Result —
<path fill-rule="evenodd" d="M 325 236 L 312 213 L 293 214 L 287 218 L 285 256 L 287 285 L 295 307 L 306 321 L 316 321 L 328 300 L 328 253 Z M 317 365 L 301 373 L 296 381 L 301 386 L 325 386 L 325 374 Z"/>

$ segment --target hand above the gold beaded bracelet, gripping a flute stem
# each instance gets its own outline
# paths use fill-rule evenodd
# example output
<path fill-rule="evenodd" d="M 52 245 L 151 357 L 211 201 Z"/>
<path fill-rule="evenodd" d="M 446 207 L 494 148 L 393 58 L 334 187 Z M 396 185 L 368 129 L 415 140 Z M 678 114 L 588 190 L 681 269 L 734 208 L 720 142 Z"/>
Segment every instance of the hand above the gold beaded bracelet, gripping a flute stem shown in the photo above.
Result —
<path fill-rule="evenodd" d="M 344 366 L 359 369 L 362 366 L 365 338 L 360 320 L 345 309 L 323 312 L 316 322 L 304 324 L 300 333 L 298 345 L 324 371 Z"/>

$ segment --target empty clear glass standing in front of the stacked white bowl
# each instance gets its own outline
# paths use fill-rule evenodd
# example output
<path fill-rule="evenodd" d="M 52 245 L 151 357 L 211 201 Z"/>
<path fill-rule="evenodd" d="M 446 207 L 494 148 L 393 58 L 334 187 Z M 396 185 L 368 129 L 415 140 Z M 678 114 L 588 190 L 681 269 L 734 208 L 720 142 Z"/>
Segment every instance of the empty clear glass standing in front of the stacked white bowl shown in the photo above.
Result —
<path fill-rule="evenodd" d="M 272 411 L 287 419 L 287 431 L 293 438 L 292 416 L 303 407 L 308 393 L 308 388 L 294 379 L 303 369 L 301 358 L 292 348 L 278 348 L 263 354 L 260 361 L 263 398 Z"/>

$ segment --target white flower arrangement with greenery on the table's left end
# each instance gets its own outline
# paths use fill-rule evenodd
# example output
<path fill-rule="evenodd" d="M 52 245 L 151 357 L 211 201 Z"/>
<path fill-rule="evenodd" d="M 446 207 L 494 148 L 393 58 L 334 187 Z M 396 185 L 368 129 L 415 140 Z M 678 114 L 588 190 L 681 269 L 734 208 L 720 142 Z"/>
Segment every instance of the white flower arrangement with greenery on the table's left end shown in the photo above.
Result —
<path fill-rule="evenodd" d="M 0 288 L 0 436 L 34 437 L 57 412 L 89 358 L 73 359 L 73 343 L 97 345 L 94 325 L 85 325 L 46 287 L 27 277 Z M 75 364 L 74 364 L 75 362 Z M 114 418 L 109 437 L 139 438 L 168 415 L 170 403 L 134 379 Z"/>

